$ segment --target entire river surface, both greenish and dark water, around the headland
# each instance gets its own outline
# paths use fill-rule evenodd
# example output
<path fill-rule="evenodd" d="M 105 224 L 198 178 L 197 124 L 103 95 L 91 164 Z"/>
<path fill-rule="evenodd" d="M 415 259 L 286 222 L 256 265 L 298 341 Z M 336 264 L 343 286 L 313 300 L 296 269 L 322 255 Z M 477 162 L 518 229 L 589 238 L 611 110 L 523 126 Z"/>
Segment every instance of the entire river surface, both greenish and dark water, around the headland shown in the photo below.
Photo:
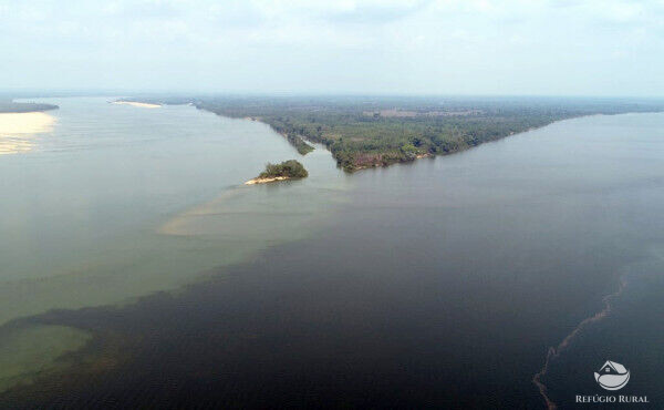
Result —
<path fill-rule="evenodd" d="M 663 406 L 664 114 L 346 175 L 108 100 L 0 132 L 0 406 L 568 408 L 606 360 Z"/>

